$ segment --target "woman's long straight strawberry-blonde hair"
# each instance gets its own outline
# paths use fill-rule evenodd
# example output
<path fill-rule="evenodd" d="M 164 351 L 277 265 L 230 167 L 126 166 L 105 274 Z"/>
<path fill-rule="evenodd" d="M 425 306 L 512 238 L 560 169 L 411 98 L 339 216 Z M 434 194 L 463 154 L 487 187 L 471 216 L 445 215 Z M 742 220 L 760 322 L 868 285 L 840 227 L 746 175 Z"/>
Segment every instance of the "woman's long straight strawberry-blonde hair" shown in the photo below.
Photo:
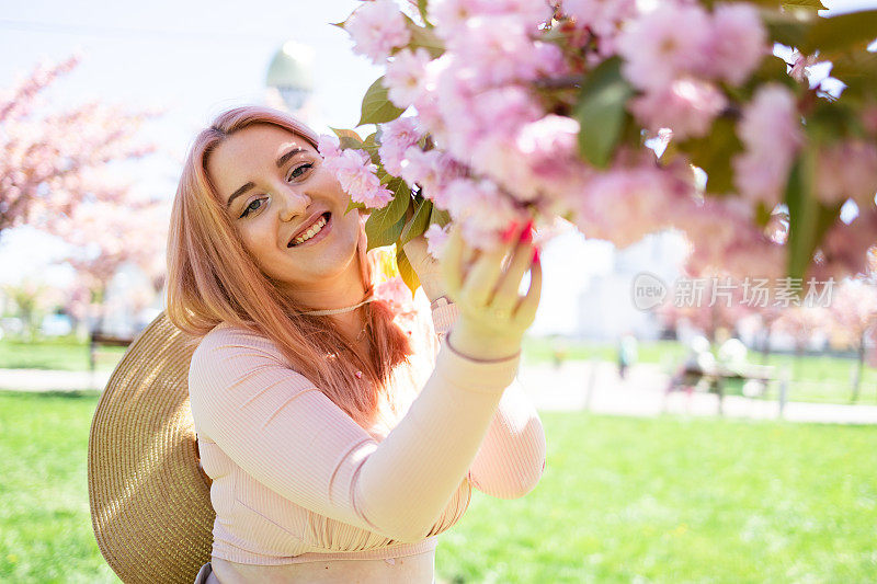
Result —
<path fill-rule="evenodd" d="M 388 396 L 391 376 L 397 365 L 410 365 L 412 345 L 394 322 L 390 306 L 375 300 L 362 308 L 372 347 L 372 358 L 364 358 L 330 317 L 300 314 L 308 307 L 282 294 L 277 283 L 259 270 L 223 208 L 206 167 L 223 140 L 253 124 L 277 126 L 317 147 L 314 130 L 285 112 L 264 106 L 227 111 L 196 136 L 171 213 L 168 317 L 196 339 L 220 322 L 269 337 L 296 371 L 368 430 L 381 402 L 396 410 L 396 400 Z M 357 260 L 367 298 L 374 293 L 376 264 L 374 254 L 366 253 L 362 221 Z"/>

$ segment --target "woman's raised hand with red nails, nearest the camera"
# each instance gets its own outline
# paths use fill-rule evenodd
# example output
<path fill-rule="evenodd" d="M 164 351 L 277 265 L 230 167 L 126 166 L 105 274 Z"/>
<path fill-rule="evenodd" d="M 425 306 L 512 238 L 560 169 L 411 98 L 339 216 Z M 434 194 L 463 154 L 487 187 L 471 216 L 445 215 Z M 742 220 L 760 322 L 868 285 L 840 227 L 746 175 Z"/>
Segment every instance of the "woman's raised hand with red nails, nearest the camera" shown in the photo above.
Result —
<path fill-rule="evenodd" d="M 533 247 L 531 225 L 510 230 L 508 241 L 496 251 L 478 252 L 452 225 L 441 267 L 447 294 L 459 306 L 459 317 L 448 343 L 475 359 L 514 356 L 536 318 L 542 291 L 542 265 Z M 505 256 L 511 254 L 508 262 Z M 472 256 L 467 268 L 466 257 Z M 529 289 L 522 298 L 517 289 L 529 271 Z"/>

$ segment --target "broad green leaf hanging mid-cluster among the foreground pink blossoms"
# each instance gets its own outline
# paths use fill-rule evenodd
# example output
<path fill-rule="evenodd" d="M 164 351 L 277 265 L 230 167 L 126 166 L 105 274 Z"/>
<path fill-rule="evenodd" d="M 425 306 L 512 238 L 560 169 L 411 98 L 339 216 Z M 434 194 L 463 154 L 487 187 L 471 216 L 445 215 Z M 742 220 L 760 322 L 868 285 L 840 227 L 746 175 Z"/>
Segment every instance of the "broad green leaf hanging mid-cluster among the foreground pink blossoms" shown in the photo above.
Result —
<path fill-rule="evenodd" d="M 625 105 L 634 88 L 622 77 L 622 59 L 601 62 L 582 84 L 573 117 L 579 121 L 579 153 L 606 168 L 624 127 Z"/>

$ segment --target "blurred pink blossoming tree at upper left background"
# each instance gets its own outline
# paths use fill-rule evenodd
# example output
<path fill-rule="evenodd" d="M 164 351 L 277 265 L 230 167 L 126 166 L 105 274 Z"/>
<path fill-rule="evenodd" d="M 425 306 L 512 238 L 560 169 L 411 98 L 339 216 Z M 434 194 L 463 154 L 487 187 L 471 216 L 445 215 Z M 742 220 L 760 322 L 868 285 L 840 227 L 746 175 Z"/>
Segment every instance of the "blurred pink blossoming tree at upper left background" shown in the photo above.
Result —
<path fill-rule="evenodd" d="M 83 201 L 117 201 L 115 186 L 88 175 L 155 151 L 134 137 L 159 112 L 87 103 L 46 113 L 42 93 L 79 61 L 42 64 L 0 94 L 0 234 L 25 224 L 52 230 Z"/>

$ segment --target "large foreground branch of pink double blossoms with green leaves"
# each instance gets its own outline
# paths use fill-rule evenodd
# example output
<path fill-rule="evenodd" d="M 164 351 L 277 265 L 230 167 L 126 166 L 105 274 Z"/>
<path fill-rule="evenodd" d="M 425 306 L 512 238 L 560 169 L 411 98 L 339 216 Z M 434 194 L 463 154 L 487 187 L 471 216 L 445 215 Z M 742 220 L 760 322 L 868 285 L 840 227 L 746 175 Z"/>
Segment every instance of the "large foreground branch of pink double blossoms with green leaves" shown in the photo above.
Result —
<path fill-rule="evenodd" d="M 320 149 L 371 209 L 369 245 L 399 243 L 411 289 L 411 238 L 437 253 L 453 220 L 488 249 L 531 217 L 618 247 L 677 228 L 692 275 L 855 274 L 877 241 L 877 11 L 821 8 L 364 1 L 338 25 L 385 68 L 358 124 L 375 131 L 338 129 Z M 808 82 L 817 61 L 840 99 Z"/>

